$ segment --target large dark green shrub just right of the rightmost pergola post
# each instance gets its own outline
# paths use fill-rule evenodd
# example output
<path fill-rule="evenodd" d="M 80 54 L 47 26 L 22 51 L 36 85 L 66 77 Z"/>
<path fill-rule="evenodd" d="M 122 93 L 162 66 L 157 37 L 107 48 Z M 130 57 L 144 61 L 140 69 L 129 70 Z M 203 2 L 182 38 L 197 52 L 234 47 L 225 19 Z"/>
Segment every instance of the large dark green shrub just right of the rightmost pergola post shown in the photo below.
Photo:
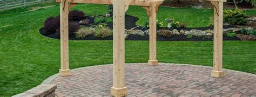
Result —
<path fill-rule="evenodd" d="M 223 19 L 225 23 L 234 25 L 245 25 L 247 23 L 247 16 L 239 9 L 224 10 Z"/>

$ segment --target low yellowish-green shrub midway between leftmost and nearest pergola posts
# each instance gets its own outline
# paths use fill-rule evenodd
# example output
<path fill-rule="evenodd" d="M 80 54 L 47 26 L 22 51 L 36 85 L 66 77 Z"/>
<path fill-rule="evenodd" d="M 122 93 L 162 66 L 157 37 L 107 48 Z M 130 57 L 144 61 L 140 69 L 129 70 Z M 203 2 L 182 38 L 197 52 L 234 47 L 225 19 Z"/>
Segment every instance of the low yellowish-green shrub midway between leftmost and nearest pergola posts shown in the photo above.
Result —
<path fill-rule="evenodd" d="M 76 38 L 85 38 L 86 36 L 93 34 L 94 29 L 92 27 L 81 27 L 77 32 L 75 32 Z"/>

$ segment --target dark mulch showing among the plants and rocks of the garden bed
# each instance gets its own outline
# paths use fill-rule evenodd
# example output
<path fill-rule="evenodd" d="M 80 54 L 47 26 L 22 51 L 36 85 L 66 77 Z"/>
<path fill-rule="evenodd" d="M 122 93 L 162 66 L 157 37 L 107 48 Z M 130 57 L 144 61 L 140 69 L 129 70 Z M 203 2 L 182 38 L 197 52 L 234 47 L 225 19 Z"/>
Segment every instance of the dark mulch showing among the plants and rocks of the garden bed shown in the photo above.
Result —
<path fill-rule="evenodd" d="M 94 23 L 94 17 L 90 17 L 90 16 L 86 16 L 87 19 L 90 20 L 89 24 L 84 24 L 84 26 L 88 27 L 91 26 L 91 24 Z M 125 29 L 131 29 L 132 27 L 136 26 L 136 22 L 137 22 L 138 18 L 137 17 L 133 17 L 133 16 L 125 16 Z M 79 21 L 77 21 L 79 22 Z M 113 27 L 112 23 L 107 24 L 107 26 L 109 26 L 110 28 Z M 235 25 L 225 25 L 224 29 L 230 28 L 230 27 L 237 27 Z M 142 30 L 145 31 L 146 29 L 143 29 L 142 27 L 136 27 L 136 29 L 138 30 Z M 167 29 L 167 28 L 160 28 L 158 30 L 161 29 Z M 191 28 L 177 28 L 178 31 L 180 30 L 192 30 L 192 29 L 197 29 L 197 30 L 208 30 L 211 29 L 213 30 L 213 27 L 191 27 Z M 55 38 L 55 39 L 59 39 L 59 37 L 56 36 L 56 34 L 48 34 L 45 35 L 43 28 L 41 28 L 39 30 L 39 32 L 46 37 L 50 37 L 50 38 Z M 76 38 L 75 36 L 70 36 L 69 37 L 70 40 L 112 40 L 113 36 L 110 37 L 106 37 L 106 38 L 98 38 L 98 37 L 94 37 L 94 36 L 86 36 L 85 38 Z M 126 40 L 149 40 L 149 35 L 145 35 L 145 36 L 140 36 L 140 35 L 136 35 L 136 34 L 130 34 L 129 36 L 127 36 Z M 158 41 L 212 41 L 213 40 L 213 36 L 202 36 L 202 37 L 198 37 L 198 36 L 193 36 L 192 38 L 187 38 L 186 35 L 173 35 L 170 38 L 166 38 L 164 36 L 160 36 L 157 35 L 157 40 Z M 238 37 L 227 37 L 223 36 L 223 40 L 240 40 L 240 38 Z"/>

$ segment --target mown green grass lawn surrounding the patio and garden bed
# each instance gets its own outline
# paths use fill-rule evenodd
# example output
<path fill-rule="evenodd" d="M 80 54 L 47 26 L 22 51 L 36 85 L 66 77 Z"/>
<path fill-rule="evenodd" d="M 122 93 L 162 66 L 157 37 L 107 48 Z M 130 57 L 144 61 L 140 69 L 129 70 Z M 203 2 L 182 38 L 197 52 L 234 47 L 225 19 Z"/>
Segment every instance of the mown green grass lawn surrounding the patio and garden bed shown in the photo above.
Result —
<path fill-rule="evenodd" d="M 48 9 L 28 11 L 19 8 L 0 12 L 0 96 L 11 96 L 35 87 L 60 68 L 60 41 L 39 34 L 47 17 L 59 15 L 58 4 Z M 78 5 L 86 15 L 103 15 L 105 5 Z M 99 10 L 97 10 L 99 9 Z M 28 11 L 28 12 L 26 12 Z M 254 12 L 254 11 L 253 11 Z M 250 12 L 250 13 L 253 13 Z M 129 15 L 147 20 L 144 9 L 130 6 Z M 254 12 L 255 13 L 255 12 Z M 174 17 L 190 27 L 212 23 L 212 9 L 173 9 L 160 7 L 158 19 Z M 70 68 L 112 63 L 111 40 L 70 40 Z M 256 41 L 224 41 L 223 67 L 256 73 Z M 163 63 L 212 66 L 212 41 L 158 41 L 157 58 Z M 125 41 L 125 62 L 146 63 L 149 41 Z M 210 71 L 209 71 L 210 72 Z"/>

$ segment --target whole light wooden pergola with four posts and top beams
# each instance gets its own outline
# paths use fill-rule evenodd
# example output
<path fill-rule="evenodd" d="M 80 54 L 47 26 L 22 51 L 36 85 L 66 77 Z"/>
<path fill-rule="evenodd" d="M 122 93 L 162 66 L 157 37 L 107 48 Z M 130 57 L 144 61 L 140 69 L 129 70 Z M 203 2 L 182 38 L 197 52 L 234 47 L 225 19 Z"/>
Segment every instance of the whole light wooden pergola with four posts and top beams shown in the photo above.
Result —
<path fill-rule="evenodd" d="M 226 0 L 204 0 L 214 6 L 214 52 L 211 76 L 224 77 L 223 63 L 223 2 Z M 125 87 L 125 12 L 129 5 L 142 6 L 150 17 L 149 65 L 158 65 L 157 60 L 157 11 L 163 0 L 56 0 L 60 2 L 60 76 L 71 75 L 69 69 L 69 9 L 78 3 L 113 5 L 113 86 L 111 95 L 127 95 Z"/>

